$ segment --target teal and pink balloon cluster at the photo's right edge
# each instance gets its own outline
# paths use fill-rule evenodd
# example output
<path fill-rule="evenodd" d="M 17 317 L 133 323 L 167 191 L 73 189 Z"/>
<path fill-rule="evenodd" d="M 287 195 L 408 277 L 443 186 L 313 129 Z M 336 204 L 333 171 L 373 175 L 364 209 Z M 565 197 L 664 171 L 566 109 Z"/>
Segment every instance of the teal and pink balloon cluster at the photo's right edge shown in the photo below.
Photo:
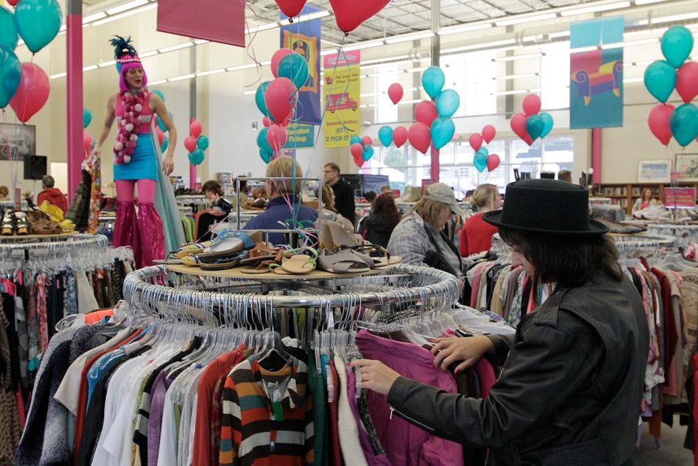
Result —
<path fill-rule="evenodd" d="M 698 63 L 686 61 L 692 50 L 692 32 L 673 26 L 662 36 L 666 60 L 655 61 L 645 70 L 645 87 L 661 102 L 652 108 L 647 123 L 665 146 L 672 135 L 683 147 L 698 139 L 698 107 L 691 103 L 698 96 Z M 674 89 L 684 102 L 678 108 L 667 104 Z"/>

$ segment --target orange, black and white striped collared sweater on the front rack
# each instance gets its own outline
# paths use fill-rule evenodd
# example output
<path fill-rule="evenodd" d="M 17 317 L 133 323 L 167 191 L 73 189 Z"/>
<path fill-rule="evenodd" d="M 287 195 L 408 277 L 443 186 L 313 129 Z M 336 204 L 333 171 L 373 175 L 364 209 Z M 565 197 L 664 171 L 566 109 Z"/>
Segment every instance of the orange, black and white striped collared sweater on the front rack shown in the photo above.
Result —
<path fill-rule="evenodd" d="M 276 409 L 274 386 L 281 400 Z M 313 403 L 303 361 L 293 359 L 271 372 L 251 356 L 232 369 L 223 389 L 220 466 L 312 464 L 313 445 Z"/>

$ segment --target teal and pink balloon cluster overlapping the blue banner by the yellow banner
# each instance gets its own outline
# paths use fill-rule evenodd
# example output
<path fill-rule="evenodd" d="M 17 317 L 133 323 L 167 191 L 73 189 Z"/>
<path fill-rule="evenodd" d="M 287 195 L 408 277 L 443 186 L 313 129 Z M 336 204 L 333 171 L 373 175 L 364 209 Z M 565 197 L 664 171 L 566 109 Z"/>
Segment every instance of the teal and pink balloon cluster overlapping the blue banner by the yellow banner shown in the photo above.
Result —
<path fill-rule="evenodd" d="M 274 80 L 262 82 L 255 93 L 257 108 L 264 114 L 264 128 L 257 135 L 257 145 L 265 163 L 277 156 L 286 144 L 286 127 L 295 118 L 298 90 L 309 77 L 306 59 L 286 48 L 274 52 L 271 66 Z"/>

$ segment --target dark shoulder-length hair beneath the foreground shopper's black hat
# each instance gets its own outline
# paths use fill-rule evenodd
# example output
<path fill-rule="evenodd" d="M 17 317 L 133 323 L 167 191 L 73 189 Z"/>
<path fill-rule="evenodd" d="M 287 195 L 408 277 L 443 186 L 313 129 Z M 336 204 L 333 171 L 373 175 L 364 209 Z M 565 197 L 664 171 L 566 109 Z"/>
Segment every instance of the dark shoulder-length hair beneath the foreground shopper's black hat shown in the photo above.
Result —
<path fill-rule="evenodd" d="M 521 232 L 500 227 L 499 235 L 519 249 L 535 268 L 533 290 L 539 283 L 556 283 L 566 288 L 580 287 L 597 273 L 623 280 L 618 250 L 611 236 L 551 235 Z M 537 293 L 533 293 L 537 303 Z"/>

